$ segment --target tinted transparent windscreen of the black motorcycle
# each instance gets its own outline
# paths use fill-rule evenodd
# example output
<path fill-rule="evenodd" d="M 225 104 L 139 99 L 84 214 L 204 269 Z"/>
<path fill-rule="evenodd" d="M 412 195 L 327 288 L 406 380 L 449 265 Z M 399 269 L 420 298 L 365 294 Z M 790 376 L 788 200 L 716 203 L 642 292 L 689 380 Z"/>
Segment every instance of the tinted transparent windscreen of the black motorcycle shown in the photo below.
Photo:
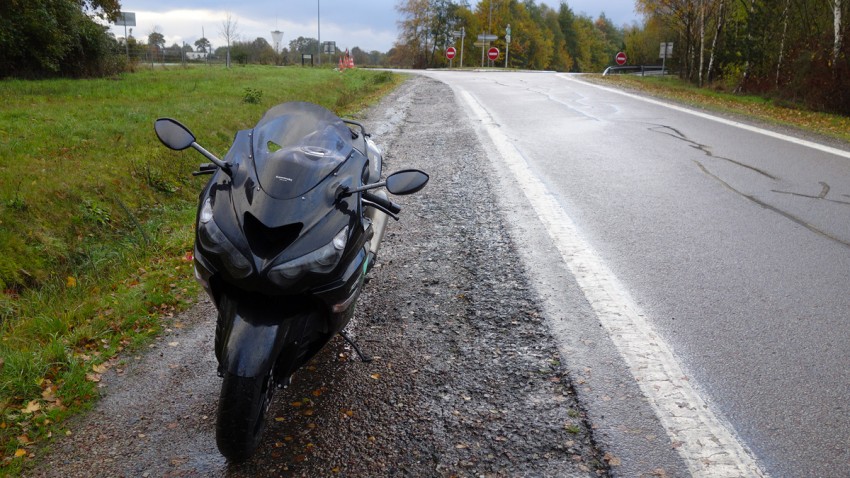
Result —
<path fill-rule="evenodd" d="M 276 199 L 292 199 L 331 174 L 353 146 L 351 130 L 327 109 L 284 103 L 254 127 L 253 149 L 260 187 Z"/>

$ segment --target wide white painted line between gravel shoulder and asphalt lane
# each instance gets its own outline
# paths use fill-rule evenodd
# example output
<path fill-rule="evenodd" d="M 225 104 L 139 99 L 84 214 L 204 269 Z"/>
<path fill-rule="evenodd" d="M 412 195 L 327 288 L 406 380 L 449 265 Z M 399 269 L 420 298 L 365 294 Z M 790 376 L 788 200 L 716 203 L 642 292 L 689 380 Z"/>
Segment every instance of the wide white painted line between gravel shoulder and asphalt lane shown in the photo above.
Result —
<path fill-rule="evenodd" d="M 767 476 L 731 426 L 716 416 L 697 393 L 673 352 L 653 331 L 625 287 L 581 237 L 557 199 L 534 176 L 522 153 L 472 95 L 465 91 L 459 94 L 525 192 L 691 474 Z"/>

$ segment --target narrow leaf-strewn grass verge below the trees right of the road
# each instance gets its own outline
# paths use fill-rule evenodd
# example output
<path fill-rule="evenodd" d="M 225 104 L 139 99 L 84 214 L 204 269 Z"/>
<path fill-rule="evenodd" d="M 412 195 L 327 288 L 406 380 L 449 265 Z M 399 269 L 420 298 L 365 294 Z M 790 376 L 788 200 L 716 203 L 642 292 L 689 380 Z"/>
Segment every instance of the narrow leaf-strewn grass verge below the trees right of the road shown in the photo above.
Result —
<path fill-rule="evenodd" d="M 850 141 L 850 118 L 846 116 L 810 111 L 778 98 L 733 94 L 724 91 L 720 84 L 712 88 L 698 88 L 676 76 L 588 75 L 587 78 L 699 108 L 796 128 L 839 141 Z"/>

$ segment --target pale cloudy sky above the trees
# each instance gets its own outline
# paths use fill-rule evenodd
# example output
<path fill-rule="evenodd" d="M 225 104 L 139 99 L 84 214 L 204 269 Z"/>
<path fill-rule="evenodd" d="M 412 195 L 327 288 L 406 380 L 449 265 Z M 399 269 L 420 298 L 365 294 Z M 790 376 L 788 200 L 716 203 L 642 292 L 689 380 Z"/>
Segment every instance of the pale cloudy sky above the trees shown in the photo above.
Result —
<path fill-rule="evenodd" d="M 386 52 L 398 39 L 397 3 L 398 0 L 122 0 L 121 10 L 136 14 L 134 37 L 147 39 L 156 28 L 165 36 L 167 45 L 184 41 L 192 45 L 203 32 L 213 47 L 222 46 L 221 25 L 225 12 L 230 12 L 237 21 L 240 40 L 263 37 L 274 46 L 271 32 L 280 30 L 284 33 L 281 46 L 286 47 L 299 36 L 316 38 L 317 16 L 321 14 L 322 41 L 335 41 L 343 50 L 357 46 L 365 51 Z M 476 3 L 470 1 L 473 6 Z M 560 5 L 559 0 L 538 3 L 554 9 Z M 567 4 L 574 13 L 593 18 L 604 12 L 620 26 L 639 21 L 633 0 L 567 0 Z M 117 37 L 124 36 L 124 27 L 113 27 L 112 31 Z"/>

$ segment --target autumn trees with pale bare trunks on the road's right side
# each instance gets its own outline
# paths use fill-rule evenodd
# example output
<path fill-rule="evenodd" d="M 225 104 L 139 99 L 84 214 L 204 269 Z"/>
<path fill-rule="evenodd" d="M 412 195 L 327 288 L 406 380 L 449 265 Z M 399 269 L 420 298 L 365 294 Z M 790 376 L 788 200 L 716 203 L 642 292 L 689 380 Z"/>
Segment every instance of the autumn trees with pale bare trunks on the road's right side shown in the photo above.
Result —
<path fill-rule="evenodd" d="M 848 0 L 636 0 L 644 24 L 626 31 L 632 57 L 673 41 L 679 75 L 850 113 Z M 653 52 L 654 49 L 654 52 Z"/>

